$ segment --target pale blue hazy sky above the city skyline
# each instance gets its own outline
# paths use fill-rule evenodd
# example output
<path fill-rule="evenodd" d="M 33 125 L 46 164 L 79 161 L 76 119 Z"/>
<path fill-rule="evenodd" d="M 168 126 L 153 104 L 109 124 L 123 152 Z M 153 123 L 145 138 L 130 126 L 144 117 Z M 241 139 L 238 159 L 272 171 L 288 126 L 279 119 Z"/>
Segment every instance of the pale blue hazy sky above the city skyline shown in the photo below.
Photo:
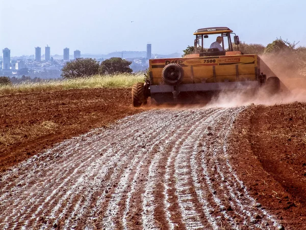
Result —
<path fill-rule="evenodd" d="M 240 41 L 267 45 L 276 38 L 306 46 L 304 0 L 0 0 L 0 49 L 33 55 L 114 51 L 182 53 L 199 28 L 225 26 Z M 0 54 L 2 55 L 2 54 Z"/>

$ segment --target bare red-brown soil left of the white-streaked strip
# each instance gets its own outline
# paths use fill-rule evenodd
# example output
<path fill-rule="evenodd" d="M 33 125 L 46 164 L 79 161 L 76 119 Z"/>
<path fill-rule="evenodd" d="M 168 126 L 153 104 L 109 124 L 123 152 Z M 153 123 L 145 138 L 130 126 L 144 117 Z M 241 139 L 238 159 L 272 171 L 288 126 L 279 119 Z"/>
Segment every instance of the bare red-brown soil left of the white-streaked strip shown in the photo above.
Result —
<path fill-rule="evenodd" d="M 43 149 L 145 110 L 131 89 L 70 89 L 0 97 L 0 172 Z"/>

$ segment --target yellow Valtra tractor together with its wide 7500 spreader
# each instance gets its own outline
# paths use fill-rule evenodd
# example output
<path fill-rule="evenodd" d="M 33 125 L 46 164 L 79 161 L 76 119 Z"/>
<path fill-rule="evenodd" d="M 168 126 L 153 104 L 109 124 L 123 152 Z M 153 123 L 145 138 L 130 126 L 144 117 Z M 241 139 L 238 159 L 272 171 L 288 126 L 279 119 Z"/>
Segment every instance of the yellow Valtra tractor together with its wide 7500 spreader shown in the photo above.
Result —
<path fill-rule="evenodd" d="M 208 91 L 248 90 L 264 85 L 271 93 L 280 90 L 281 82 L 258 55 L 233 50 L 240 41 L 231 29 L 203 28 L 193 34 L 192 54 L 149 60 L 149 79 L 132 87 L 135 107 L 146 104 L 148 97 L 158 104 L 185 103 L 193 102 L 195 94 L 205 95 Z"/>

